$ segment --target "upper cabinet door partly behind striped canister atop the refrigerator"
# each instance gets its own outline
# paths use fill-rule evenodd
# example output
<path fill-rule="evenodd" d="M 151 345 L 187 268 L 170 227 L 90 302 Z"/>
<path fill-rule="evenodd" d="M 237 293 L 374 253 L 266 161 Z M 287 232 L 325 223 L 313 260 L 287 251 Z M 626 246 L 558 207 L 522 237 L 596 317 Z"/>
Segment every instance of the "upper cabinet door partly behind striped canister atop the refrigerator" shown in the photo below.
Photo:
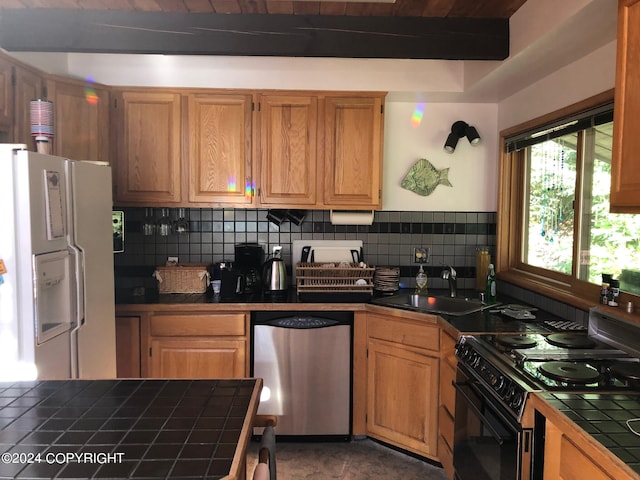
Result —
<path fill-rule="evenodd" d="M 31 136 L 31 100 L 44 97 L 42 77 L 34 71 L 19 66 L 16 66 L 15 72 L 16 85 L 13 142 L 25 143 L 29 150 L 35 150 L 35 142 Z M 56 126 L 54 125 L 53 128 L 55 133 Z"/>

